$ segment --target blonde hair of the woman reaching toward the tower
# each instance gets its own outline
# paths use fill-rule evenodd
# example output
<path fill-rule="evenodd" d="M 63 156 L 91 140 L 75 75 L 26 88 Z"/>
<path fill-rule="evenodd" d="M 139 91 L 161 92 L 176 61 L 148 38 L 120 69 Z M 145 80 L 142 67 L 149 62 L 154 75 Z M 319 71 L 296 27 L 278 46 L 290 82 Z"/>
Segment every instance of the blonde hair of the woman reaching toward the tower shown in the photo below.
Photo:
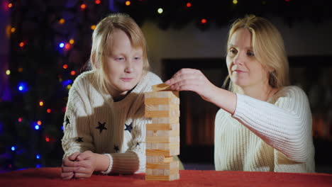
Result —
<path fill-rule="evenodd" d="M 269 74 L 269 84 L 272 88 L 281 88 L 289 85 L 289 65 L 284 49 L 284 40 L 277 28 L 267 21 L 254 15 L 248 15 L 236 20 L 229 30 L 227 52 L 232 35 L 240 28 L 247 28 L 252 35 L 252 45 L 255 58 L 265 67 L 273 69 Z M 229 82 L 228 82 L 229 81 Z M 237 87 L 231 81 L 229 75 L 224 81 L 228 84 L 228 90 L 237 92 Z"/>

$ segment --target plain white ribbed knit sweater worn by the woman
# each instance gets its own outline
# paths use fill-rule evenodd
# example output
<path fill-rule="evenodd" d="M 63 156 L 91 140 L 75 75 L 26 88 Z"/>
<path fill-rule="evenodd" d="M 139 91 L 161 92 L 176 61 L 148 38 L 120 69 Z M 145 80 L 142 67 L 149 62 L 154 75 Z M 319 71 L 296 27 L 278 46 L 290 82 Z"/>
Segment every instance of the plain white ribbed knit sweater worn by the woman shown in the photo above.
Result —
<path fill-rule="evenodd" d="M 233 116 L 215 121 L 216 170 L 315 171 L 311 111 L 304 91 L 287 86 L 269 101 L 236 94 Z"/>

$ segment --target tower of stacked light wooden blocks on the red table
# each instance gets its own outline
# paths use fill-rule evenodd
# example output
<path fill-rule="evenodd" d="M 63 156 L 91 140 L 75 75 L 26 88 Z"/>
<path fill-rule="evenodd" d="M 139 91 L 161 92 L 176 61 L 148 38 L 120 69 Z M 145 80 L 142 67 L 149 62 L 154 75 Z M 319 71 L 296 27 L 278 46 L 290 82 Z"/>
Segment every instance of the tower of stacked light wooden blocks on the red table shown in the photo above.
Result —
<path fill-rule="evenodd" d="M 167 84 L 153 86 L 145 93 L 146 125 L 145 180 L 173 181 L 179 179 L 179 91 L 167 90 Z"/>

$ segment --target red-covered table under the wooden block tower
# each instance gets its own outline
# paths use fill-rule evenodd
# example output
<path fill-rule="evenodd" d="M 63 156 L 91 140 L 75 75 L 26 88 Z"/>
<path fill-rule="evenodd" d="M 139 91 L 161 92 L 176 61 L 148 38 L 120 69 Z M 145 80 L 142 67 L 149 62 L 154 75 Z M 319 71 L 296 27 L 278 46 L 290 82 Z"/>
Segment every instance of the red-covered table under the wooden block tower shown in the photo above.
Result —
<path fill-rule="evenodd" d="M 61 168 L 33 168 L 0 174 L 0 186 L 332 186 L 332 174 L 180 170 L 177 181 L 145 181 L 145 174 L 60 179 Z"/>

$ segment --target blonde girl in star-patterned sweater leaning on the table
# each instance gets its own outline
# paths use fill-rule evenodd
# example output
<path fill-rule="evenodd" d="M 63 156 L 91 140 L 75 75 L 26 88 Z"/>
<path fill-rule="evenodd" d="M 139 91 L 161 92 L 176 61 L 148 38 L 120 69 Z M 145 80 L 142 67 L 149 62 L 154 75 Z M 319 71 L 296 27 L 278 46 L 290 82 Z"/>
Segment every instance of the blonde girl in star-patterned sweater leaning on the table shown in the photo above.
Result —
<path fill-rule="evenodd" d="M 90 65 L 69 92 L 62 179 L 145 172 L 143 93 L 162 81 L 148 72 L 145 38 L 132 18 L 118 13 L 98 23 Z"/>

